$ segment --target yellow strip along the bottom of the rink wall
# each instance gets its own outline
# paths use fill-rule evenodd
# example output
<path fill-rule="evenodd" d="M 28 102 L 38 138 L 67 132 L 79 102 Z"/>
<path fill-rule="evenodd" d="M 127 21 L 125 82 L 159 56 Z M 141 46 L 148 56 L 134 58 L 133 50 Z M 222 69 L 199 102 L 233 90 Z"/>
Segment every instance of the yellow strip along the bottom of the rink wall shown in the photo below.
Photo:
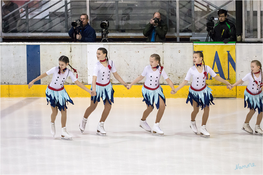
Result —
<path fill-rule="evenodd" d="M 85 85 L 90 89 L 91 85 Z M 47 85 L 33 85 L 28 89 L 28 85 L 0 85 L 1 97 L 45 97 Z M 81 89 L 77 85 L 64 85 L 70 97 L 90 97 L 90 94 Z M 178 86 L 175 86 L 175 88 Z M 244 98 L 244 90 L 246 86 L 237 86 L 232 90 L 226 89 L 226 86 L 209 86 L 213 91 L 215 98 Z M 127 90 L 123 85 L 113 85 L 114 97 L 121 98 L 141 98 L 142 85 L 133 85 L 130 90 Z M 162 85 L 163 92 L 166 98 L 187 98 L 189 86 L 184 86 L 176 94 L 170 94 L 171 88 L 169 85 Z M 237 93 L 238 92 L 238 93 Z"/>

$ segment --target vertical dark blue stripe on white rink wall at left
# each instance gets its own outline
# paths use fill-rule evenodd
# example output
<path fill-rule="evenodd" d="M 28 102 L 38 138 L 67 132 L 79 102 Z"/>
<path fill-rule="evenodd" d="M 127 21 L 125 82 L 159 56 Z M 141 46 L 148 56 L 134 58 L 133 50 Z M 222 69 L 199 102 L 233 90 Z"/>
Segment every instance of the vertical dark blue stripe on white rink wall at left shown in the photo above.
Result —
<path fill-rule="evenodd" d="M 40 45 L 27 45 L 27 82 L 40 76 Z M 34 84 L 40 84 L 38 80 Z"/>

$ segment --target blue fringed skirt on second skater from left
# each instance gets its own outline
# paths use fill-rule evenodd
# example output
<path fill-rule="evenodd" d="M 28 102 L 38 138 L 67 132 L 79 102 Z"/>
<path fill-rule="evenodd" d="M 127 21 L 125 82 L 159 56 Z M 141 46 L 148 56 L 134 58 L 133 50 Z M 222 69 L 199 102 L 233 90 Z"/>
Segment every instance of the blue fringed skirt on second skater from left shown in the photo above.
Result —
<path fill-rule="evenodd" d="M 90 90 L 92 90 L 92 85 Z M 106 100 L 108 100 L 110 105 L 111 102 L 114 103 L 114 99 L 113 99 L 114 90 L 112 88 L 111 83 L 106 86 L 96 85 L 96 93 L 97 93 L 96 96 L 91 96 L 91 100 L 94 102 L 94 104 L 96 101 L 100 102 L 100 98 L 102 98 L 104 105 L 106 103 Z"/>

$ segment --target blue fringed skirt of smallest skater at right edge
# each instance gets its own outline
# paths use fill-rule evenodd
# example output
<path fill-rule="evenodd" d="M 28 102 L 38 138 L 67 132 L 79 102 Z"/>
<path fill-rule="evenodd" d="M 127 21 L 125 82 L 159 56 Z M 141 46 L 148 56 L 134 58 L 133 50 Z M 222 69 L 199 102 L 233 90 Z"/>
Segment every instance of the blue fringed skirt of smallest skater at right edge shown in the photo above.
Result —
<path fill-rule="evenodd" d="M 245 107 L 247 107 L 248 103 L 248 108 L 249 109 L 254 109 L 258 111 L 258 114 L 262 112 L 262 91 L 260 94 L 257 95 L 252 95 L 249 94 L 247 90 L 244 91 L 244 103 Z"/>

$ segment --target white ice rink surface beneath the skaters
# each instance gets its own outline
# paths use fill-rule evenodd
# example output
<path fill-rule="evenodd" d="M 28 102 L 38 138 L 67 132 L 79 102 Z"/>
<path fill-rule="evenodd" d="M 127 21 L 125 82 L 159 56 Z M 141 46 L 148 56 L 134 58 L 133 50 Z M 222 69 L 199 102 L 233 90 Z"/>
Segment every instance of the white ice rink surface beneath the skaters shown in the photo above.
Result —
<path fill-rule="evenodd" d="M 96 135 L 103 102 L 81 133 L 90 98 L 72 100 L 66 127 L 73 140 L 67 141 L 60 135 L 60 112 L 56 135 L 50 134 L 45 98 L 1 98 L 1 174 L 262 174 L 262 136 L 241 130 L 249 111 L 244 99 L 214 99 L 206 127 L 209 139 L 189 127 L 193 108 L 184 98 L 166 99 L 160 122 L 164 137 L 139 127 L 146 109 L 143 98 L 114 98 L 104 124 L 106 137 Z M 150 127 L 156 114 L 154 106 L 147 118 Z M 196 117 L 198 131 L 202 114 L 199 110 Z M 253 130 L 256 119 L 254 114 Z"/>

